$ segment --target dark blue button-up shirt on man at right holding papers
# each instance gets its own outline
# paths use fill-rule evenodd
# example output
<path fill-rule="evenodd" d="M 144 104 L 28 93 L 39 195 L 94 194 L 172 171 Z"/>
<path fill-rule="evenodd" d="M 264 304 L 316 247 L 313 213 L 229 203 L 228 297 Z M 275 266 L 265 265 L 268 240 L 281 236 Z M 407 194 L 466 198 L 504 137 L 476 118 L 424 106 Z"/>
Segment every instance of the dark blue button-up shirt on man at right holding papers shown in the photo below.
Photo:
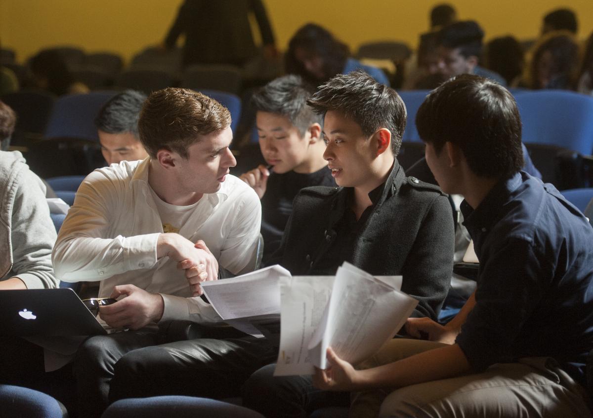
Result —
<path fill-rule="evenodd" d="M 525 172 L 461 211 L 480 261 L 476 306 L 457 337 L 471 366 L 550 356 L 584 385 L 593 349 L 591 225 Z"/>

